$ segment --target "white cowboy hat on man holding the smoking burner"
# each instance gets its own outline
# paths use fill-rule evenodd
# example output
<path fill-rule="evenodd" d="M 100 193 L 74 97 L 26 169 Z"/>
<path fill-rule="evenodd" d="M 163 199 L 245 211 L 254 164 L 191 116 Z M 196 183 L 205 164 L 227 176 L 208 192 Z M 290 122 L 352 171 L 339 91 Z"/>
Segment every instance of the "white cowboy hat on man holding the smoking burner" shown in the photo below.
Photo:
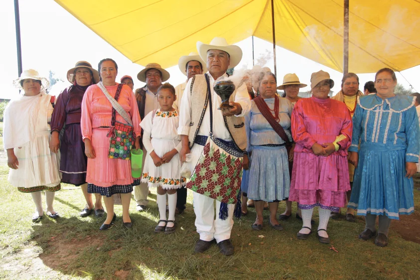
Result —
<path fill-rule="evenodd" d="M 197 50 L 201 59 L 207 61 L 207 51 L 211 49 L 222 50 L 229 54 L 230 64 L 229 68 L 233 68 L 241 62 L 242 50 L 236 45 L 229 45 L 225 38 L 214 37 L 210 44 L 197 42 Z"/>

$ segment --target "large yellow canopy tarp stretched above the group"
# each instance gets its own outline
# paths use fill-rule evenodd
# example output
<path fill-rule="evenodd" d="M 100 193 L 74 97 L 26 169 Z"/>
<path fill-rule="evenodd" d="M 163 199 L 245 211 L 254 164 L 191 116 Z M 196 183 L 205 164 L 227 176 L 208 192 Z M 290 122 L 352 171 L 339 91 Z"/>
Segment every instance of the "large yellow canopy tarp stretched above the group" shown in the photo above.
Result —
<path fill-rule="evenodd" d="M 271 0 L 55 0 L 130 60 L 177 64 L 196 42 L 273 42 Z M 276 44 L 342 72 L 343 0 L 274 0 Z M 349 71 L 420 64 L 420 1 L 350 0 Z"/>

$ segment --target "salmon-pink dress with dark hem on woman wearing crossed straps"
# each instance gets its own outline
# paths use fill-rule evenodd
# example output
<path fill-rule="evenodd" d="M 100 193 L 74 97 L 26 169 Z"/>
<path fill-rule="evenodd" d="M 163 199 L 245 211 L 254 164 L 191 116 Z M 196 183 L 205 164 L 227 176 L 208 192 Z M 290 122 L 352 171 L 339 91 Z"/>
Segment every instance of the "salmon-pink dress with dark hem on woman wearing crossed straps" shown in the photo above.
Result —
<path fill-rule="evenodd" d="M 109 94 L 115 97 L 118 84 L 106 86 Z M 129 86 L 124 85 L 118 103 L 130 114 L 134 134 L 141 135 L 140 114 L 136 98 Z M 115 193 L 129 193 L 135 182 L 131 174 L 131 161 L 125 159 L 109 158 L 110 138 L 107 137 L 112 119 L 112 105 L 97 85 L 90 86 L 82 101 L 81 129 L 83 139 L 91 140 L 96 158 L 88 158 L 86 182 L 89 193 L 100 193 L 110 197 Z M 126 124 L 126 121 L 117 113 L 116 121 Z"/>

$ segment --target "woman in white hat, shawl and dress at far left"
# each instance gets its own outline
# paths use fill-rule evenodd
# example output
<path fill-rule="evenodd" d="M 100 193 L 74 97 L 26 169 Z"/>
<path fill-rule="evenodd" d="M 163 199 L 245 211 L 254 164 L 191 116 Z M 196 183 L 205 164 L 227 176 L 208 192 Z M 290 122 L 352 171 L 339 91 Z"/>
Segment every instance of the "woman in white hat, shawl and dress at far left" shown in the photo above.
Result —
<path fill-rule="evenodd" d="M 33 222 L 43 216 L 41 191 L 45 191 L 47 215 L 56 219 L 52 206 L 55 191 L 61 189 L 59 172 L 60 154 L 49 148 L 51 129 L 49 122 L 54 98 L 42 90 L 48 81 L 32 69 L 23 71 L 14 81 L 24 94 L 11 100 L 4 111 L 4 149 L 10 167 L 8 181 L 17 190 L 31 193 L 36 209 Z"/>

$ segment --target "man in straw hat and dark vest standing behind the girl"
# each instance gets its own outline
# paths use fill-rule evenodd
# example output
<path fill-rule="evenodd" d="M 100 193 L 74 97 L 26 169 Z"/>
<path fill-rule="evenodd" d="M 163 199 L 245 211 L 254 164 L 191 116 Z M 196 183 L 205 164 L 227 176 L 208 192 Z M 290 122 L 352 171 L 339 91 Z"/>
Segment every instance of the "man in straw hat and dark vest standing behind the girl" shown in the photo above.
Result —
<path fill-rule="evenodd" d="M 159 109 L 159 102 L 157 101 L 157 89 L 162 85 L 162 82 L 168 80 L 170 77 L 169 72 L 162 69 L 157 63 L 149 63 L 146 67 L 137 74 L 140 82 L 146 85 L 136 90 L 135 96 L 141 120 L 144 119 L 148 113 L 153 110 Z M 146 157 L 146 149 L 143 147 L 143 166 Z M 137 202 L 137 211 L 146 210 L 148 188 L 147 183 L 140 183 L 134 188 L 134 198 Z"/>

